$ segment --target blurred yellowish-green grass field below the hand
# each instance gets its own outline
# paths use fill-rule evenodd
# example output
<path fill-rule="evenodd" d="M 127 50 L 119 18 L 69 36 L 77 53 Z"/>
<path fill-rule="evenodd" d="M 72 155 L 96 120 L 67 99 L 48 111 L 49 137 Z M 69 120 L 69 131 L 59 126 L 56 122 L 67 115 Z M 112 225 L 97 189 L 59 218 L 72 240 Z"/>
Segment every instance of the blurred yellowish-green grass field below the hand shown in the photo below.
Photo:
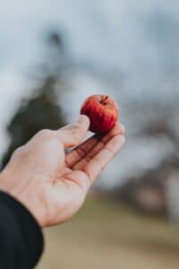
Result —
<path fill-rule="evenodd" d="M 179 225 L 90 197 L 69 223 L 45 231 L 38 269 L 178 269 Z"/>

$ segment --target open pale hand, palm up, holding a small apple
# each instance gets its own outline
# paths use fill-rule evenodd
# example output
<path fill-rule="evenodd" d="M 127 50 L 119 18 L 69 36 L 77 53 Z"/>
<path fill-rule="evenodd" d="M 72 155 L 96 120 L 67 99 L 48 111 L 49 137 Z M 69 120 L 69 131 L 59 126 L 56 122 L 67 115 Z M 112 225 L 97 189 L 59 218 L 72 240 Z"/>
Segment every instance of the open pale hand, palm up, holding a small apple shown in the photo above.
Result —
<path fill-rule="evenodd" d="M 57 131 L 40 131 L 13 153 L 0 174 L 0 189 L 24 204 L 41 227 L 70 219 L 124 144 L 124 127 L 119 124 L 81 143 L 89 126 L 89 118 L 81 116 Z M 74 146 L 78 147 L 65 153 Z"/>

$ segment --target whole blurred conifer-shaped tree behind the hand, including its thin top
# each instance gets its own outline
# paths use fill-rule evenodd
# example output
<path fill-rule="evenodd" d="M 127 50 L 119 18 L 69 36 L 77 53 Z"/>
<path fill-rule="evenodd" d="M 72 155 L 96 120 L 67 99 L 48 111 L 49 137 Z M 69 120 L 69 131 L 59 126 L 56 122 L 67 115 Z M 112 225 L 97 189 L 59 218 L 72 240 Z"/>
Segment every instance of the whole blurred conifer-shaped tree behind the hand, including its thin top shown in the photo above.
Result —
<path fill-rule="evenodd" d="M 58 82 L 60 89 L 58 94 L 61 94 L 64 88 L 64 79 L 62 79 L 63 75 L 61 75 L 64 70 L 64 48 L 61 36 L 55 31 L 48 33 L 47 46 L 50 48 L 47 56 L 47 61 L 50 65 L 45 65 L 42 82 L 33 91 L 35 94 L 29 100 L 21 100 L 20 108 L 17 109 L 7 126 L 11 143 L 4 154 L 3 167 L 9 161 L 13 151 L 22 144 L 27 143 L 39 130 L 57 129 L 64 126 L 63 111 L 56 101 L 57 92 L 55 91 L 56 82 Z M 56 56 L 53 48 L 56 48 Z"/>

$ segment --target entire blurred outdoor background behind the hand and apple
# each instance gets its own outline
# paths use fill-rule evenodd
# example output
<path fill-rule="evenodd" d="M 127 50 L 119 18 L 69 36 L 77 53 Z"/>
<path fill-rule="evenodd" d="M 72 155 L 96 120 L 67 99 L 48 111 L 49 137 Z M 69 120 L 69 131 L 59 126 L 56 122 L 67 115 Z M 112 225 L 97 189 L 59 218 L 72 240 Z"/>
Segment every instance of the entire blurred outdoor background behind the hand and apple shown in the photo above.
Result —
<path fill-rule="evenodd" d="M 178 2 L 6 0 L 0 33 L 2 169 L 90 94 L 115 98 L 127 132 L 81 212 L 45 230 L 37 268 L 178 268 Z"/>

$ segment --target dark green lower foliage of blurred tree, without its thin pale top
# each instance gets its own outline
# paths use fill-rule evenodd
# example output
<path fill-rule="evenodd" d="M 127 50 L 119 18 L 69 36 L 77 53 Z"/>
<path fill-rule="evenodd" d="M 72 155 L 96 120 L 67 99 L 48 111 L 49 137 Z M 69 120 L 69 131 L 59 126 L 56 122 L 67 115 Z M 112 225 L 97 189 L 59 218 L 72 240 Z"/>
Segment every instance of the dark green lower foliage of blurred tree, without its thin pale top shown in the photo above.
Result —
<path fill-rule="evenodd" d="M 37 90 L 36 96 L 21 102 L 21 107 L 7 126 L 11 144 L 4 154 L 3 167 L 13 151 L 27 143 L 39 130 L 57 129 L 64 125 L 62 110 L 56 104 L 54 86 L 55 77 L 47 77 L 42 87 Z"/>

